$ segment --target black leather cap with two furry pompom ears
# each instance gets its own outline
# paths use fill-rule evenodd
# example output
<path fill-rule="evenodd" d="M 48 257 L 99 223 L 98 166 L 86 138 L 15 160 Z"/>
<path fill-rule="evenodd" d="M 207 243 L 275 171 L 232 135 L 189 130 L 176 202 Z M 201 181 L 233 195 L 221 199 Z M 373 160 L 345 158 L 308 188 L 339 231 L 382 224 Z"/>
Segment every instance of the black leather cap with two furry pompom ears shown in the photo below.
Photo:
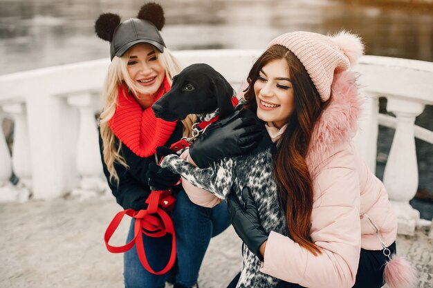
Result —
<path fill-rule="evenodd" d="M 131 18 L 120 23 L 120 16 L 104 13 L 95 21 L 95 32 L 98 37 L 111 43 L 111 60 L 121 57 L 129 48 L 138 43 L 155 46 L 164 52 L 164 39 L 159 30 L 165 24 L 164 10 L 157 3 L 146 3 L 140 8 L 138 18 Z"/>

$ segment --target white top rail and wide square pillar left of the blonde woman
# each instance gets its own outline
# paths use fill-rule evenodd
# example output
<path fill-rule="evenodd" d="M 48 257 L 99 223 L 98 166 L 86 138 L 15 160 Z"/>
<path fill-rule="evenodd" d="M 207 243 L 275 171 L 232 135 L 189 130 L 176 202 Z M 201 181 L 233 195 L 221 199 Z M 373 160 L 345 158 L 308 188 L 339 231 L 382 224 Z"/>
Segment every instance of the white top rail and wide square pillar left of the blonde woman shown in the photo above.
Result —
<path fill-rule="evenodd" d="M 109 59 L 43 68 L 0 77 L 0 106 L 26 103 L 33 198 L 65 195 L 79 183 L 75 164 L 79 113 L 67 97 L 99 91 Z M 16 101 L 16 100 L 15 100 Z"/>

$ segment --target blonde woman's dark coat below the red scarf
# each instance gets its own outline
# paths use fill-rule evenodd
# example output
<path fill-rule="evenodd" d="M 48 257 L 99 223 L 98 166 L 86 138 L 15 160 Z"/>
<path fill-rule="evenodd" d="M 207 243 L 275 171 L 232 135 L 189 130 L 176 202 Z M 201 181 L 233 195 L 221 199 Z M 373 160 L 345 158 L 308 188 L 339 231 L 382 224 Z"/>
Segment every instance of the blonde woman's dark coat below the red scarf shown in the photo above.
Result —
<path fill-rule="evenodd" d="M 170 146 L 174 142 L 181 139 L 183 133 L 183 124 L 178 121 L 172 135 L 165 143 L 165 146 Z M 116 138 L 116 142 L 119 140 Z M 150 187 L 147 184 L 147 167 L 150 162 L 156 162 L 155 156 L 151 155 L 149 157 L 140 157 L 134 154 L 131 149 L 129 149 L 125 144 L 122 144 L 120 149 L 120 155 L 125 158 L 125 161 L 129 165 L 129 168 L 114 163 L 114 168 L 119 176 L 119 183 L 113 180 L 113 183 L 109 181 L 109 171 L 107 170 L 107 165 L 104 162 L 104 155 L 102 154 L 102 138 L 99 135 L 100 153 L 102 166 L 104 168 L 105 177 L 107 177 L 107 182 L 110 186 L 111 192 L 116 197 L 116 200 L 123 209 L 133 209 L 140 210 L 146 209 L 147 204 L 145 201 L 150 194 Z M 158 155 L 158 160 L 160 155 Z"/>

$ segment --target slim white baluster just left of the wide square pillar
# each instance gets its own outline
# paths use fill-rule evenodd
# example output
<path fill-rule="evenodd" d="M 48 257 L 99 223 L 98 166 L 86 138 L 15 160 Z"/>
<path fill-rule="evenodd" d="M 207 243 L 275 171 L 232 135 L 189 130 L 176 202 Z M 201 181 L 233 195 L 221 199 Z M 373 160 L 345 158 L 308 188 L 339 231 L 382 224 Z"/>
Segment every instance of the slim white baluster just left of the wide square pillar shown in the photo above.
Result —
<path fill-rule="evenodd" d="M 12 169 L 19 178 L 19 182 L 14 190 L 17 199 L 25 201 L 30 197 L 30 189 L 32 188 L 26 106 L 24 104 L 7 104 L 3 105 L 3 111 L 9 113 L 15 122 L 14 142 L 12 144 Z"/>

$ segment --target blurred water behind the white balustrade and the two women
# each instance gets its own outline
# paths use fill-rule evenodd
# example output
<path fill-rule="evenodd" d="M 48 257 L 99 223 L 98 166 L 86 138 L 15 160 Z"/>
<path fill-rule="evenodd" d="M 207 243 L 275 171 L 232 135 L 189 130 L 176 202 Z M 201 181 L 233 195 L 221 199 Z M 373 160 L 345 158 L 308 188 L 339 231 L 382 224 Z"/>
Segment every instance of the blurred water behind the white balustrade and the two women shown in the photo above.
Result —
<path fill-rule="evenodd" d="M 171 50 L 263 49 L 294 30 L 358 33 L 367 54 L 433 61 L 433 13 L 413 6 L 361 6 L 332 0 L 160 0 L 163 37 Z M 136 17 L 142 0 L 0 0 L 0 75 L 109 57 L 109 44 L 95 37 L 102 12 Z M 433 108 L 416 124 L 433 130 Z M 382 177 L 394 130 L 380 127 L 378 168 Z M 432 144 L 416 140 L 421 190 L 433 195 Z M 432 216 L 430 215 L 430 218 Z"/>

